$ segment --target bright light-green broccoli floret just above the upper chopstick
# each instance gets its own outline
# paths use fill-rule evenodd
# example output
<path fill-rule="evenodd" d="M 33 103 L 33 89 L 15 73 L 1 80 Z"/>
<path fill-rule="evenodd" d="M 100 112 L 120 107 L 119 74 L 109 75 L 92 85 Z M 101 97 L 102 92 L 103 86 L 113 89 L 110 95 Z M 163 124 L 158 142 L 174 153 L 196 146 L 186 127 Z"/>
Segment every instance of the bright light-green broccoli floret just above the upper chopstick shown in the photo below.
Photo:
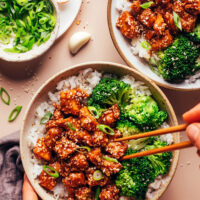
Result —
<path fill-rule="evenodd" d="M 167 113 L 159 110 L 158 104 L 150 96 L 133 98 L 125 111 L 127 118 L 142 130 L 156 129 L 167 119 Z"/>

